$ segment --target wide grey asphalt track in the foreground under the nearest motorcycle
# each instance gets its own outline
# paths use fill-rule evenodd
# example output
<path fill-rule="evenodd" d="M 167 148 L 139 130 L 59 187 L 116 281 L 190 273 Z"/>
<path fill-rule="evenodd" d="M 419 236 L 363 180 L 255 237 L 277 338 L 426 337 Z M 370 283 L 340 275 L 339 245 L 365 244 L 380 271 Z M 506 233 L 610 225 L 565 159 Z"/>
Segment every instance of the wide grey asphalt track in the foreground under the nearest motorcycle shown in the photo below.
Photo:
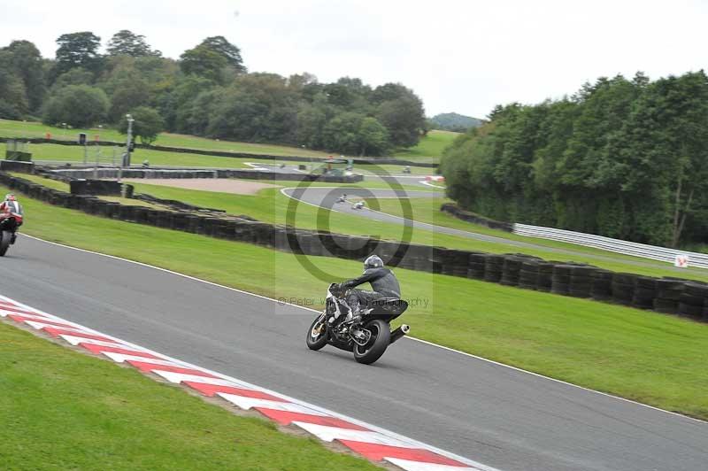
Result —
<path fill-rule="evenodd" d="M 0 263 L 0 292 L 19 302 L 492 467 L 708 463 L 705 422 L 411 339 L 372 367 L 358 365 L 329 346 L 306 348 L 312 312 L 26 236 Z M 414 334 L 415 318 L 405 321 Z"/>

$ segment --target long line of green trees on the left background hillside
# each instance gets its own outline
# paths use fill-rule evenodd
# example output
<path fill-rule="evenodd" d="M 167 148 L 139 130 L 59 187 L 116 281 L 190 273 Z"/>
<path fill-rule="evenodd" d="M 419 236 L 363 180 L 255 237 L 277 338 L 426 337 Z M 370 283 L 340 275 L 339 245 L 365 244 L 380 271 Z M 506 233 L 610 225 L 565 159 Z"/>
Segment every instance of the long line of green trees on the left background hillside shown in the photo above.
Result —
<path fill-rule="evenodd" d="M 91 32 L 61 35 L 57 44 L 54 59 L 24 40 L 0 49 L 0 118 L 125 128 L 132 113 L 146 143 L 167 130 L 369 156 L 411 147 L 427 130 L 422 101 L 400 83 L 249 73 L 223 36 L 179 60 L 128 30 L 112 36 L 105 54 Z"/>

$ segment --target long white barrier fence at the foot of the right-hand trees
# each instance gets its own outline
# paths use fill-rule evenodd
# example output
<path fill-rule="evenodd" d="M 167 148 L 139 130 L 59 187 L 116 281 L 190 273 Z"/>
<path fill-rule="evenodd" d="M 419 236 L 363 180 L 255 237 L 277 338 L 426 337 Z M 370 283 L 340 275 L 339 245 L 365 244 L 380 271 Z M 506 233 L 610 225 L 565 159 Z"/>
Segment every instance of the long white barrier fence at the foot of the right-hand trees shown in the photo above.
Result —
<path fill-rule="evenodd" d="M 573 232 L 572 230 L 564 229 L 542 228 L 540 226 L 529 226 L 527 224 L 514 223 L 513 233 L 560 242 L 577 243 L 578 245 L 584 245 L 586 247 L 595 247 L 596 249 L 602 249 L 604 251 L 614 251 L 625 255 L 659 260 L 671 264 L 673 264 L 677 255 L 688 255 L 689 266 L 708 268 L 708 254 L 706 253 L 678 251 L 676 249 L 667 249 L 666 247 L 657 247 L 656 245 L 647 245 L 645 243 L 621 241 L 620 239 L 612 239 L 602 235 L 584 234 L 582 232 Z"/>

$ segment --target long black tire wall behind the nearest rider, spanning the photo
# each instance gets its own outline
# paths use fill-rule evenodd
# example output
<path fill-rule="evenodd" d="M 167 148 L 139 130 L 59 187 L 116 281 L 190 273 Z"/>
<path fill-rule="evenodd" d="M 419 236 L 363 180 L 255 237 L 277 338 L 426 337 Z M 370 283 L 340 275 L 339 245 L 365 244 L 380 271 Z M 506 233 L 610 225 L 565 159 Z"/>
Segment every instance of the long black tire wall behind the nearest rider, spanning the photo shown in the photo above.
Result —
<path fill-rule="evenodd" d="M 678 314 L 708 322 L 708 284 L 678 278 L 614 273 L 582 264 L 546 261 L 525 254 L 493 254 L 401 244 L 366 236 L 286 228 L 245 217 L 121 205 L 89 195 L 70 195 L 0 172 L 0 184 L 29 197 L 89 214 L 252 243 L 309 256 L 362 260 L 376 251 L 390 266 L 496 282 L 527 290 Z"/>

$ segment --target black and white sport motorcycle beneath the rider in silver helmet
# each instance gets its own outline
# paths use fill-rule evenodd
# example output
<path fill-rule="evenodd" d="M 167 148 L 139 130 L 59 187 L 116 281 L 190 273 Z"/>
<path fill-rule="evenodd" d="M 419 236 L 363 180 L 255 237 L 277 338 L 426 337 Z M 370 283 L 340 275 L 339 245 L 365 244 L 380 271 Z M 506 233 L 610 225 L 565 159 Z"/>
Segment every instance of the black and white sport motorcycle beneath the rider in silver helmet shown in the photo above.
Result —
<path fill-rule="evenodd" d="M 325 310 L 312 322 L 307 331 L 307 346 L 320 350 L 330 344 L 354 353 L 359 363 L 371 365 L 381 358 L 384 351 L 411 330 L 406 324 L 391 331 L 390 321 L 400 316 L 408 303 L 396 297 L 378 299 L 373 307 L 362 307 L 357 315 L 351 313 L 346 297 L 349 290 L 329 285 Z M 343 319 L 343 320 L 342 320 Z"/>

